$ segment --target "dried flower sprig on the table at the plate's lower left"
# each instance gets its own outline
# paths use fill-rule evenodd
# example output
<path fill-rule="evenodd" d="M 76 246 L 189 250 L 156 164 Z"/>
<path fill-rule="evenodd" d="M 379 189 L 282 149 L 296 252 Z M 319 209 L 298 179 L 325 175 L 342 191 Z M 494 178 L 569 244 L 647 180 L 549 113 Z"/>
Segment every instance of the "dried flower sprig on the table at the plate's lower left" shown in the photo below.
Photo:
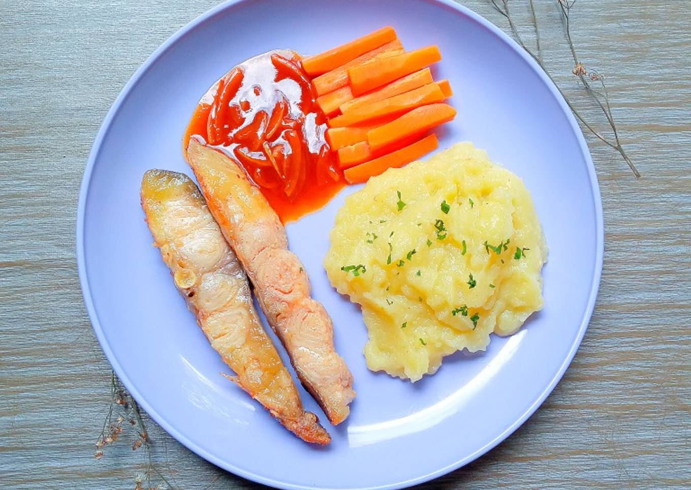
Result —
<path fill-rule="evenodd" d="M 116 407 L 120 407 L 121 414 L 117 415 L 115 420 L 113 420 L 115 415 L 113 412 L 117 409 Z M 126 417 L 131 426 L 137 427 L 137 438 L 132 443 L 132 451 L 137 451 L 142 446 L 146 450 L 144 473 L 135 478 L 135 490 L 175 489 L 176 487 L 169 481 L 169 478 L 154 464 L 151 456 L 151 439 L 149 438 L 149 431 L 146 430 L 141 409 L 132 395 L 122 388 L 120 381 L 115 377 L 115 372 L 111 373 L 111 402 L 108 406 L 108 413 L 103 423 L 101 435 L 95 444 L 95 458 L 97 460 L 103 458 L 104 447 L 116 442 L 124 433 L 123 424 Z M 153 486 L 151 482 L 153 473 L 158 475 L 163 484 L 159 483 Z M 142 486 L 144 482 L 146 482 L 146 487 Z"/>

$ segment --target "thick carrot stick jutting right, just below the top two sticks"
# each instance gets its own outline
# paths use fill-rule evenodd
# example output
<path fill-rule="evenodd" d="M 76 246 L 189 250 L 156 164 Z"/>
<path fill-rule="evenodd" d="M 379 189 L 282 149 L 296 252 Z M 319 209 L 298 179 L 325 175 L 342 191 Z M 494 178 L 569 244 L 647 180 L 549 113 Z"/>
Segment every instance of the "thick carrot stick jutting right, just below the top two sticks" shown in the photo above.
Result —
<path fill-rule="evenodd" d="M 408 53 L 372 59 L 348 67 L 348 79 L 353 95 L 361 95 L 442 59 L 437 46 L 427 46 Z"/>

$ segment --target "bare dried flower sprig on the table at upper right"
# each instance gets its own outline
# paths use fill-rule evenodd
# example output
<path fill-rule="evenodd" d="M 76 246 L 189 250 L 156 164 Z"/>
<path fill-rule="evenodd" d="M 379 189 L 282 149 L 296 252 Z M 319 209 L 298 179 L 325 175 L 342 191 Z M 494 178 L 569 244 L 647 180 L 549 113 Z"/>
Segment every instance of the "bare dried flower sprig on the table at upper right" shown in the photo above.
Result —
<path fill-rule="evenodd" d="M 529 7 L 531 12 L 533 30 L 535 32 L 536 38 L 536 52 L 533 52 L 533 50 L 527 46 L 527 44 L 523 41 L 522 37 L 520 36 L 513 16 L 511 15 L 511 11 L 509 10 L 509 0 L 490 1 L 492 2 L 494 8 L 509 22 L 509 28 L 511 29 L 511 34 L 513 35 L 514 39 L 518 42 L 518 44 L 520 44 L 520 46 L 524 50 L 527 51 L 529 55 L 531 55 L 531 57 L 533 57 L 533 59 L 535 59 L 535 61 L 540 65 L 542 70 L 545 70 L 545 73 L 547 74 L 549 79 L 551 79 L 553 84 L 557 87 L 562 97 L 564 97 L 564 100 L 569 106 L 569 109 L 571 109 L 571 112 L 574 113 L 576 118 L 578 118 L 578 120 L 583 124 L 583 126 L 585 126 L 588 129 L 588 131 L 593 133 L 596 136 L 596 138 L 598 138 L 598 140 L 607 144 L 608 147 L 611 147 L 612 149 L 618 151 L 618 153 L 621 155 L 621 157 L 633 171 L 634 175 L 636 177 L 641 177 L 641 173 L 638 172 L 638 169 L 636 169 L 634 162 L 632 162 L 631 158 L 628 156 L 621 144 L 619 133 L 614 122 L 614 116 L 612 115 L 612 107 L 609 104 L 609 94 L 607 93 L 607 86 L 605 85 L 605 77 L 594 70 L 586 70 L 585 66 L 583 66 L 583 63 L 580 62 L 580 59 L 576 54 L 574 41 L 571 37 L 570 19 L 571 9 L 574 8 L 576 0 L 556 0 L 556 3 L 558 4 L 558 7 L 565 22 L 565 37 L 567 40 L 567 44 L 569 45 L 569 50 L 571 51 L 571 57 L 573 57 L 574 59 L 574 69 L 572 70 L 572 73 L 574 73 L 574 75 L 578 77 L 581 84 L 583 84 L 583 87 L 586 89 L 587 93 L 592 97 L 592 99 L 596 102 L 600 110 L 605 115 L 605 118 L 607 119 L 607 124 L 609 124 L 609 127 L 612 129 L 614 139 L 608 138 L 607 136 L 603 135 L 603 133 L 595 129 L 590 122 L 585 120 L 585 117 L 583 117 L 583 115 L 576 109 L 574 104 L 569 100 L 569 97 L 567 97 L 564 91 L 562 91 L 562 88 L 556 83 L 556 80 L 552 77 L 551 73 L 549 73 L 549 70 L 547 70 L 547 67 L 542 62 L 542 50 L 540 48 L 540 29 L 538 28 L 538 18 L 536 15 L 535 6 L 533 6 L 533 0 L 529 0 Z M 593 84 L 591 84 L 591 82 L 599 82 L 600 90 L 596 89 L 593 86 Z"/>

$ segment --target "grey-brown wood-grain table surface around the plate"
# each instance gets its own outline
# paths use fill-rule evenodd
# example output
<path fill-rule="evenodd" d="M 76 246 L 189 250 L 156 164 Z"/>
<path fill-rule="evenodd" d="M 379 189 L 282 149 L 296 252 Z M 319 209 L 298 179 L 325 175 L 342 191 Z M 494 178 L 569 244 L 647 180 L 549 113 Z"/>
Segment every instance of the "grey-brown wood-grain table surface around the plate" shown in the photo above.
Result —
<path fill-rule="evenodd" d="M 556 0 L 535 0 L 547 66 L 571 75 Z M 466 6 L 507 29 L 489 0 Z M 510 0 L 522 26 L 527 0 Z M 0 487 L 133 489 L 133 428 L 94 458 L 111 367 L 82 303 L 75 214 L 93 138 L 125 82 L 213 0 L 0 2 Z M 535 415 L 434 488 L 691 486 L 691 23 L 688 0 L 580 0 L 576 47 L 607 74 L 641 171 L 585 133 L 605 209 L 600 295 L 576 358 Z M 524 29 L 531 39 L 529 28 Z M 119 408 L 119 407 L 117 407 Z M 182 489 L 254 488 L 149 420 Z M 158 475 L 155 481 L 161 482 Z M 173 482 L 171 480 L 171 483 Z"/>

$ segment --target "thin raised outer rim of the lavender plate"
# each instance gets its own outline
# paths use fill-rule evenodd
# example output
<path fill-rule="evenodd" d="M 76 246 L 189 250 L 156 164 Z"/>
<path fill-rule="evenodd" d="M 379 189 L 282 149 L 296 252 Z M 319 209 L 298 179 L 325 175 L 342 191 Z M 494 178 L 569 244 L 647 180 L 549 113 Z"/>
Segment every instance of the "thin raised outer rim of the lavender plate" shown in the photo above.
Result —
<path fill-rule="evenodd" d="M 93 304 L 93 299 L 91 297 L 91 288 L 89 287 L 88 278 L 86 274 L 86 254 L 84 250 L 84 218 L 86 214 L 86 199 L 88 197 L 89 187 L 91 185 L 91 174 L 93 171 L 93 167 L 98 156 L 100 155 L 103 140 L 106 134 L 108 133 L 108 130 L 110 129 L 111 123 L 115 118 L 115 115 L 120 111 L 122 104 L 126 102 L 133 88 L 135 88 L 135 86 L 140 82 L 140 80 L 149 70 L 151 65 L 153 65 L 153 63 L 160 56 L 162 56 L 169 48 L 171 48 L 173 44 L 176 44 L 180 39 L 182 39 L 182 37 L 187 35 L 188 32 L 200 26 L 200 24 L 207 21 L 207 19 L 211 19 L 211 17 L 218 15 L 220 12 L 223 12 L 224 10 L 234 8 L 234 6 L 239 5 L 240 3 L 247 3 L 248 1 L 252 0 L 224 1 L 223 3 L 220 3 L 218 6 L 211 8 L 206 12 L 203 12 L 201 15 L 192 19 L 191 21 L 189 21 L 189 23 L 185 24 L 184 26 L 182 26 L 182 28 L 173 33 L 173 35 L 166 39 L 166 41 L 164 41 L 163 44 L 158 46 L 158 48 L 156 48 L 156 50 L 154 50 L 154 52 L 146 59 L 146 61 L 144 61 L 144 63 L 135 71 L 135 73 L 130 77 L 128 82 L 124 85 L 120 93 L 117 95 L 117 98 L 115 99 L 115 102 L 113 102 L 113 104 L 111 105 L 111 108 L 108 110 L 108 113 L 106 113 L 106 117 L 104 117 L 104 120 L 94 139 L 91 151 L 89 152 L 86 167 L 84 169 L 84 176 L 82 177 L 82 182 L 79 186 L 79 200 L 77 202 L 77 223 L 75 229 L 75 252 L 77 256 L 77 272 L 79 274 L 79 285 L 82 288 L 82 296 L 84 297 L 84 305 L 86 306 L 86 312 L 88 314 L 89 320 L 91 321 L 91 325 L 96 334 L 98 343 L 100 344 L 104 354 L 106 355 L 106 359 L 108 359 L 108 362 L 110 362 L 118 378 L 120 379 L 120 381 L 122 381 L 122 384 L 124 384 L 125 388 L 129 390 L 129 393 L 136 399 L 138 404 L 140 404 L 142 408 L 144 408 L 146 413 L 159 426 L 161 426 L 164 429 L 164 431 L 169 433 L 178 442 L 180 442 L 180 444 L 184 445 L 185 447 L 187 447 L 187 449 L 189 449 L 193 453 L 196 453 L 196 455 L 200 456 L 201 458 L 204 458 L 205 460 L 211 462 L 217 467 L 224 469 L 225 471 L 229 471 L 234 475 L 247 478 L 247 480 L 252 480 L 254 482 L 286 490 L 332 490 L 337 489 L 337 487 L 316 487 L 301 484 L 291 484 L 279 480 L 274 480 L 273 478 L 268 478 L 266 476 L 259 475 L 256 473 L 252 473 L 252 471 L 246 471 L 245 469 L 238 467 L 235 464 L 231 464 L 230 462 L 224 461 L 218 456 L 209 453 L 205 449 L 202 449 L 197 444 L 189 440 L 186 435 L 182 434 L 176 428 L 171 426 L 167 422 L 167 420 L 165 420 L 163 417 L 159 415 L 158 411 L 155 411 L 155 409 L 153 409 L 153 407 L 149 405 L 149 403 L 146 401 L 146 398 L 142 396 L 142 394 L 134 388 L 129 377 L 124 375 L 122 366 L 120 366 L 117 357 L 115 357 L 113 351 L 108 345 L 108 342 L 106 341 L 105 334 L 102 330 L 102 326 L 99 321 L 97 311 Z M 593 276 L 591 278 L 590 294 L 588 296 L 587 305 L 580 326 L 578 327 L 576 337 L 574 337 L 574 341 L 573 343 L 571 343 L 571 348 L 569 349 L 569 352 L 567 353 L 564 361 L 562 361 L 562 364 L 559 366 L 557 372 L 549 381 L 549 384 L 545 386 L 545 388 L 542 390 L 542 393 L 538 395 L 533 404 L 531 404 L 524 411 L 524 413 L 520 415 L 520 417 L 518 417 L 513 423 L 509 424 L 509 426 L 504 428 L 504 431 L 497 435 L 493 440 L 491 440 L 484 446 L 480 447 L 470 455 L 466 455 L 464 458 L 460 458 L 452 464 L 448 464 L 445 467 L 439 468 L 435 471 L 426 473 L 424 475 L 420 475 L 415 478 L 409 478 L 408 480 L 378 485 L 374 487 L 358 487 L 357 490 L 401 489 L 410 487 L 415 484 L 428 482 L 435 478 L 439 478 L 440 476 L 445 475 L 446 473 L 451 473 L 451 471 L 459 469 L 460 467 L 463 467 L 464 465 L 472 462 L 473 460 L 480 458 L 480 456 L 484 455 L 484 453 L 493 449 L 495 446 L 500 444 L 500 442 L 504 441 L 507 437 L 509 437 L 509 435 L 515 432 L 529 417 L 531 417 L 531 415 L 533 415 L 533 413 L 535 413 L 535 411 L 540 407 L 540 405 L 542 405 L 542 403 L 545 402 L 545 399 L 547 399 L 547 397 L 556 387 L 560 379 L 562 379 L 565 371 L 571 364 L 571 361 L 574 359 L 576 351 L 578 350 L 581 341 L 583 341 L 583 336 L 585 335 L 585 332 L 588 328 L 590 319 L 595 308 L 595 303 L 600 288 L 600 279 L 603 270 L 605 239 L 603 223 L 603 205 L 602 197 L 600 194 L 600 185 L 596 175 L 591 153 L 587 146 L 587 142 L 585 141 L 585 137 L 583 136 L 583 131 L 580 129 L 580 126 L 576 121 L 576 117 L 574 117 L 574 114 L 571 112 L 571 109 L 569 109 L 567 102 L 564 100 L 564 97 L 562 97 L 562 95 L 560 94 L 554 82 L 552 82 L 552 80 L 549 78 L 549 75 L 545 73 L 545 70 L 543 70 L 542 67 L 540 67 L 540 65 L 538 65 L 538 63 L 522 47 L 520 47 L 520 45 L 516 41 L 514 41 L 509 35 L 507 35 L 506 32 L 501 30 L 498 26 L 495 26 L 493 23 L 491 23 L 491 21 L 482 17 L 482 15 L 477 14 L 477 12 L 471 10 L 466 6 L 461 5 L 460 3 L 455 2 L 454 0 L 418 1 L 421 1 L 422 3 L 437 4 L 439 6 L 457 10 L 460 13 L 462 13 L 462 15 L 466 15 L 466 17 L 469 17 L 473 21 L 477 22 L 480 26 L 489 30 L 493 35 L 497 36 L 500 40 L 504 41 L 504 43 L 506 43 L 519 57 L 521 57 L 525 62 L 527 62 L 527 64 L 529 64 L 529 66 L 535 71 L 538 77 L 540 77 L 542 82 L 548 88 L 551 95 L 553 95 L 553 97 L 556 99 L 560 108 L 562 109 L 562 112 L 566 115 L 567 120 L 571 125 L 571 129 L 574 131 L 574 135 L 576 136 L 576 140 L 578 140 L 580 150 L 585 158 L 585 164 L 587 167 L 588 177 L 591 184 L 591 191 L 594 200 L 596 219 L 596 254 L 594 258 L 595 263 Z"/>

